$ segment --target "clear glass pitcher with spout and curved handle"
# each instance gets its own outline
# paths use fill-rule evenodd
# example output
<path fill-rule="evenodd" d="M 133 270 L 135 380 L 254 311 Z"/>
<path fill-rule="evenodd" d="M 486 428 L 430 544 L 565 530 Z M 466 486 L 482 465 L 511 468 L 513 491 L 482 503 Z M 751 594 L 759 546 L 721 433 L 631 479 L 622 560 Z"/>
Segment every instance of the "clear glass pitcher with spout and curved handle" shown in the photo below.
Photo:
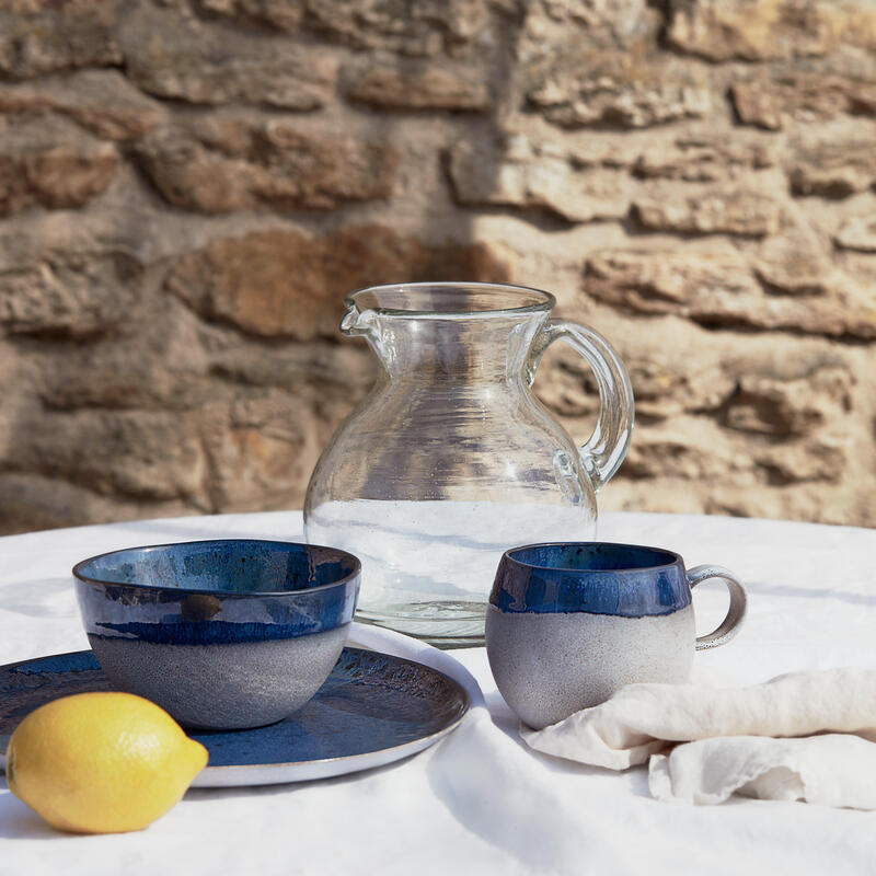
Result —
<path fill-rule="evenodd" d="M 550 319 L 555 299 L 535 289 L 415 283 L 344 303 L 342 332 L 382 369 L 313 470 L 307 539 L 362 561 L 359 620 L 442 647 L 483 643 L 505 550 L 595 538 L 595 494 L 633 428 L 626 369 L 596 332 Z M 530 391 L 554 341 L 599 388 L 580 448 Z"/>

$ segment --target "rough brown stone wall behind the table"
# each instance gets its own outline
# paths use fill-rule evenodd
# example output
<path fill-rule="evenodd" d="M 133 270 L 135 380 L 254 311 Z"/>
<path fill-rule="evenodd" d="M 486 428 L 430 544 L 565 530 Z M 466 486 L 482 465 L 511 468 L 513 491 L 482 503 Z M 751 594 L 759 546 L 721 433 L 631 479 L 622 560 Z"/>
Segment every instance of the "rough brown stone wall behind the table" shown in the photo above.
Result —
<path fill-rule="evenodd" d="M 876 526 L 875 185 L 872 0 L 0 0 L 0 530 L 300 507 L 440 278 L 618 347 L 603 509 Z"/>

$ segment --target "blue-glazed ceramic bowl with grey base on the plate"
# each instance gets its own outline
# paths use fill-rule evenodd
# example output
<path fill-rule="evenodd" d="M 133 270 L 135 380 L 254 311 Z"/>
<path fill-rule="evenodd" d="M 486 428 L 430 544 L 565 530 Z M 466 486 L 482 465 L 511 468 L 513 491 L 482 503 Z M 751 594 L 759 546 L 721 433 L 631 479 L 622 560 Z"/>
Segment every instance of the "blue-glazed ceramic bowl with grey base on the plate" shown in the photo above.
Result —
<path fill-rule="evenodd" d="M 289 716 L 332 671 L 361 564 L 333 548 L 227 539 L 131 548 L 73 567 L 95 657 L 116 689 L 186 727 Z"/>

